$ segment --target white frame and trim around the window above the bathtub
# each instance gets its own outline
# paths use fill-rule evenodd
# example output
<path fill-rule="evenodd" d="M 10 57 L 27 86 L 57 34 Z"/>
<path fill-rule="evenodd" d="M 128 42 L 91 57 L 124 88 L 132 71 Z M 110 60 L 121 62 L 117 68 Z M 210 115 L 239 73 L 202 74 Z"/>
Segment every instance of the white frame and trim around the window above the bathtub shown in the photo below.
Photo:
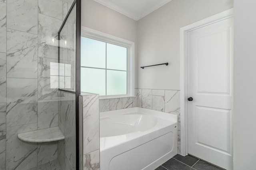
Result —
<path fill-rule="evenodd" d="M 135 96 L 134 42 L 128 41 L 126 39 L 122 39 L 113 35 L 109 35 L 106 33 L 102 33 L 100 31 L 96 31 L 94 29 L 90 29 L 84 26 L 81 26 L 81 36 L 127 48 L 127 94 L 100 96 L 100 99 L 134 97 Z"/>

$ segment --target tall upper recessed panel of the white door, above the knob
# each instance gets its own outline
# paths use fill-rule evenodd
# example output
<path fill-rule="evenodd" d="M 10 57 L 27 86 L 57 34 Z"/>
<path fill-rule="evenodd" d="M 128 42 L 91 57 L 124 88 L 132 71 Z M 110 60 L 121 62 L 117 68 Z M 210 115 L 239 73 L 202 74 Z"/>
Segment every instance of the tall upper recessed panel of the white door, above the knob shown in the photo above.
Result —
<path fill-rule="evenodd" d="M 201 37 L 198 42 L 198 93 L 229 93 L 229 29 Z M 209 53 L 209 51 L 211 53 Z"/>

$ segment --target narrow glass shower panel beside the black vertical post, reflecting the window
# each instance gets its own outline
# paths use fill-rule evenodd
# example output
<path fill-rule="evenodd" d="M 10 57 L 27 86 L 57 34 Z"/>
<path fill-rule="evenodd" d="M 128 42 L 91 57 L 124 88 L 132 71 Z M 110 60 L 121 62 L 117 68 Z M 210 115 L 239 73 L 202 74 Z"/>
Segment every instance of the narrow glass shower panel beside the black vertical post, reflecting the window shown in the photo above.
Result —
<path fill-rule="evenodd" d="M 76 5 L 59 32 L 58 126 L 65 139 L 58 141 L 62 170 L 76 169 Z"/>

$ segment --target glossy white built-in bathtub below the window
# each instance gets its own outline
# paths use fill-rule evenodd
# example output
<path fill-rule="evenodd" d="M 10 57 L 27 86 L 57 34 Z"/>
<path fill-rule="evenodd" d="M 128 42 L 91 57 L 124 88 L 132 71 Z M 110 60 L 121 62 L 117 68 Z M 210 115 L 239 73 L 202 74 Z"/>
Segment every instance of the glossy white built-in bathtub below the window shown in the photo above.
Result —
<path fill-rule="evenodd" d="M 100 113 L 100 170 L 154 170 L 177 154 L 177 120 L 139 107 Z"/>

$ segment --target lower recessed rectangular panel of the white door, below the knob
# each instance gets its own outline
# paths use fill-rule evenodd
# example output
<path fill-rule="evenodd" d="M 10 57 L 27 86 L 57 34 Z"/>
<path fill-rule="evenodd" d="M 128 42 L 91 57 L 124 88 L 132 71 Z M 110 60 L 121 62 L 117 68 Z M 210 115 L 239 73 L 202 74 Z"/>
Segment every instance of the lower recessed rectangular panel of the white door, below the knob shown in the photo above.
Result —
<path fill-rule="evenodd" d="M 230 153 L 230 110 L 196 106 L 197 142 Z"/>

